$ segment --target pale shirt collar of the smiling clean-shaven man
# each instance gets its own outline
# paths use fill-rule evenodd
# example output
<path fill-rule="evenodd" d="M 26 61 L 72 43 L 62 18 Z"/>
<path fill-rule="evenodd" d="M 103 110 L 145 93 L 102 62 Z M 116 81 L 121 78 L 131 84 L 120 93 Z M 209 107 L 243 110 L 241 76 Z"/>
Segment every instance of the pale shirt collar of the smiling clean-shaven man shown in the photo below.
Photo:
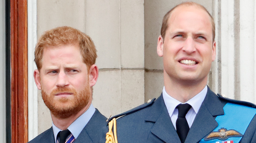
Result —
<path fill-rule="evenodd" d="M 201 107 L 201 104 L 203 103 L 206 93 L 207 93 L 207 86 L 205 86 L 201 92 L 199 92 L 196 96 L 194 96 L 193 98 L 191 98 L 190 100 L 188 100 L 185 103 L 190 104 L 192 106 L 193 110 L 195 111 L 195 113 L 197 114 L 199 111 L 199 108 Z M 165 106 L 168 110 L 168 113 L 169 113 L 169 115 L 172 115 L 176 106 L 181 104 L 181 102 L 178 101 L 177 99 L 171 97 L 165 91 L 165 87 L 163 87 L 162 94 L 163 94 L 163 100 L 164 100 Z"/>

